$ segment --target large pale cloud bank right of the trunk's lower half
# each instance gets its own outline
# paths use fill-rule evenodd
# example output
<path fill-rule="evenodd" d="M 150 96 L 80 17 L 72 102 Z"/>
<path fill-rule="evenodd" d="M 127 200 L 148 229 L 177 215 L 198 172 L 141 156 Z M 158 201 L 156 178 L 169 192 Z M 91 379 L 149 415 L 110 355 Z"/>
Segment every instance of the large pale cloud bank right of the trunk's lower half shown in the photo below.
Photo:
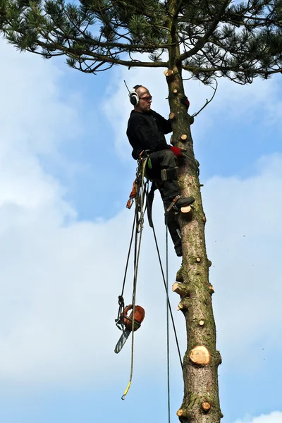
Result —
<path fill-rule="evenodd" d="M 212 178 L 204 188 L 219 348 L 227 367 L 243 360 L 250 372 L 270 360 L 271 348 L 282 349 L 281 165 L 274 154 L 260 161 L 256 176 Z"/>

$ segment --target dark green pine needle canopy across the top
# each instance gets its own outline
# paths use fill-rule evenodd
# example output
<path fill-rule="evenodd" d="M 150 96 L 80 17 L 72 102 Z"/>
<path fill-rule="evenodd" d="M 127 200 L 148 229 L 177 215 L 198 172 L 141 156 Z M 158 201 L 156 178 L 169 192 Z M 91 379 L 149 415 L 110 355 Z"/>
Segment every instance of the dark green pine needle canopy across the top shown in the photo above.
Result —
<path fill-rule="evenodd" d="M 88 73 L 174 63 L 209 84 L 282 70 L 282 0 L 0 0 L 0 31 L 21 51 L 66 55 Z"/>

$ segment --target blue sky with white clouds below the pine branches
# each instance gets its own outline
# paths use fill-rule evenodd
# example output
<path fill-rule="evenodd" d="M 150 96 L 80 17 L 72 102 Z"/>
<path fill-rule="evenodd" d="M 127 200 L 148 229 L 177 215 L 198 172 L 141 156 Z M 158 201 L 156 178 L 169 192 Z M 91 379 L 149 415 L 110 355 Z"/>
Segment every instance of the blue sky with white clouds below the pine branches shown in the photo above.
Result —
<path fill-rule="evenodd" d="M 147 314 L 125 401 L 129 343 L 114 354 L 133 219 L 125 204 L 135 175 L 123 79 L 147 85 L 152 108 L 168 116 L 164 75 L 117 67 L 84 75 L 3 41 L 0 50 L 1 421 L 166 421 L 165 295 L 147 226 L 137 287 Z M 219 80 L 192 125 L 226 423 L 282 422 L 280 76 L 245 87 Z M 191 113 L 213 93 L 197 81 L 185 90 Z M 164 243 L 161 207 L 157 197 L 154 221 Z M 172 285 L 180 259 L 169 251 Z M 177 297 L 171 294 L 173 310 Z M 180 312 L 175 319 L 184 353 L 184 319 Z M 182 397 L 171 341 L 171 422 Z"/>

